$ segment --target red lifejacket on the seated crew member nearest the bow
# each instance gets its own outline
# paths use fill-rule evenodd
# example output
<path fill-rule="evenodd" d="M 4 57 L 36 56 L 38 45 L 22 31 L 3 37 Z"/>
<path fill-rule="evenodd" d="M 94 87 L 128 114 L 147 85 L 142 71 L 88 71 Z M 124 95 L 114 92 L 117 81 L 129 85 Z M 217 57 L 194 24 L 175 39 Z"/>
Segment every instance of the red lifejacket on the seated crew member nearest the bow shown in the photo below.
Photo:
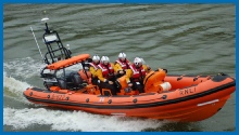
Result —
<path fill-rule="evenodd" d="M 146 70 L 142 66 L 140 68 L 136 68 L 136 66 L 133 64 L 129 67 L 133 70 L 133 76 L 131 76 L 133 80 L 138 81 L 138 80 L 141 80 L 142 78 L 146 77 Z M 140 73 L 140 71 L 141 71 L 141 73 Z"/>

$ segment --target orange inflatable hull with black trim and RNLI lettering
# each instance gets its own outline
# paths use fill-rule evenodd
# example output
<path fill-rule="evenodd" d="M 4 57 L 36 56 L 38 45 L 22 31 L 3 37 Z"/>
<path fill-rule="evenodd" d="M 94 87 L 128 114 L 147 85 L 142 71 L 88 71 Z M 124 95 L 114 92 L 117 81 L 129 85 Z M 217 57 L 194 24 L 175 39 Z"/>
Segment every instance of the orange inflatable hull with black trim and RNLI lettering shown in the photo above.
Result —
<path fill-rule="evenodd" d="M 169 91 L 148 91 L 140 95 L 103 96 L 99 90 L 90 93 L 96 87 L 93 85 L 79 91 L 28 87 L 23 94 L 33 103 L 63 109 L 194 122 L 218 112 L 230 94 L 236 91 L 236 80 L 225 75 L 214 77 L 167 75 L 163 81 L 169 82 L 172 85 Z"/>

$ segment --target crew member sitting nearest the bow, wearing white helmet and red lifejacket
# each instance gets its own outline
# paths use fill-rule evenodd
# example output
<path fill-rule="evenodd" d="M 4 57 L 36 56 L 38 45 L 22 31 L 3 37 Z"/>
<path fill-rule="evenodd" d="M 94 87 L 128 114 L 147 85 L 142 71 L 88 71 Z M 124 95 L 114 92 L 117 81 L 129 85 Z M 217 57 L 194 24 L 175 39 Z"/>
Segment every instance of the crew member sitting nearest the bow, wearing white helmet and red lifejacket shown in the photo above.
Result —
<path fill-rule="evenodd" d="M 130 69 L 126 71 L 126 82 L 133 90 L 138 90 L 139 93 L 143 93 L 143 79 L 150 69 L 148 66 L 142 65 L 142 59 L 136 57 L 134 64 L 129 66 Z"/>

